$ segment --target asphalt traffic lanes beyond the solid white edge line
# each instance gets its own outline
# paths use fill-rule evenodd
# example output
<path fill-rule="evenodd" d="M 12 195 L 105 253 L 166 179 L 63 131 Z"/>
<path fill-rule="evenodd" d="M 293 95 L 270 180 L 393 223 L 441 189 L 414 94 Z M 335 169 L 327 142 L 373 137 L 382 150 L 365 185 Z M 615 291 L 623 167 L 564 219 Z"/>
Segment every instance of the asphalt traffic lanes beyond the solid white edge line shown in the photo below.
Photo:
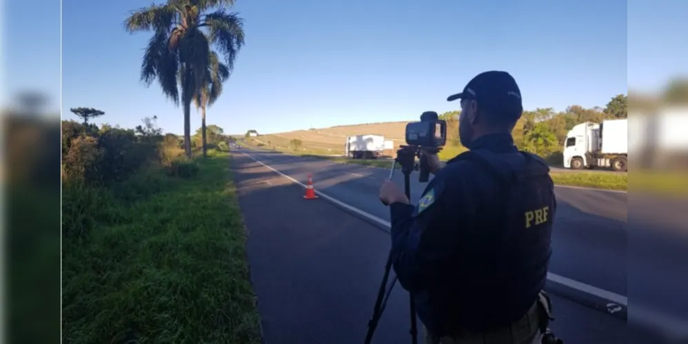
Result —
<path fill-rule="evenodd" d="M 388 170 L 281 153 L 250 154 L 303 184 L 312 174 L 316 190 L 389 222 L 389 209 L 378 199 Z M 400 171 L 393 179 L 403 185 Z M 411 176 L 412 202 L 417 202 L 425 185 L 418 182 L 417 173 Z M 558 186 L 556 197 L 549 272 L 626 296 L 627 193 Z"/>

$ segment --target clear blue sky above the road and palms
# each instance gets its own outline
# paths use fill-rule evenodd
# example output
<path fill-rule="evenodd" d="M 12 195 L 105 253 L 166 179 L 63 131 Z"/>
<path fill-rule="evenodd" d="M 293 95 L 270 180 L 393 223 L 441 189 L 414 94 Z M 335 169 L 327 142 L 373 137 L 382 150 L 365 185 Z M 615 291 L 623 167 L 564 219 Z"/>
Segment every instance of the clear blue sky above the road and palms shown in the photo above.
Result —
<path fill-rule="evenodd" d="M 150 34 L 122 27 L 130 10 L 148 5 L 63 1 L 63 118 L 75 118 L 70 107 L 96 107 L 106 113 L 97 122 L 133 127 L 156 115 L 165 131 L 182 132 L 181 107 L 156 83 L 139 81 Z M 413 120 L 457 109 L 446 97 L 488 69 L 516 77 L 527 109 L 604 106 L 627 83 L 657 88 L 687 69 L 685 45 L 676 54 L 665 49 L 685 32 L 667 25 L 680 22 L 686 3 L 628 6 L 627 13 L 624 0 L 237 0 L 232 11 L 245 20 L 246 45 L 208 122 L 230 133 L 269 133 Z M 6 1 L 5 13 L 7 89 L 40 87 L 57 107 L 59 1 Z M 193 111 L 192 127 L 199 125 Z"/>

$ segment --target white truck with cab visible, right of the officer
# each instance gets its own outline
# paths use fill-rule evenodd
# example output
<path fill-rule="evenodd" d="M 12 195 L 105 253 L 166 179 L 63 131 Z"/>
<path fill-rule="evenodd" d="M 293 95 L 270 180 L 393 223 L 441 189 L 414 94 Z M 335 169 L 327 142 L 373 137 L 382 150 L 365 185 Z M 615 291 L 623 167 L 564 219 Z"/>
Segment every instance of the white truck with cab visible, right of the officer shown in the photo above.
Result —
<path fill-rule="evenodd" d="M 628 120 L 585 122 L 571 128 L 564 142 L 564 167 L 628 170 Z"/>

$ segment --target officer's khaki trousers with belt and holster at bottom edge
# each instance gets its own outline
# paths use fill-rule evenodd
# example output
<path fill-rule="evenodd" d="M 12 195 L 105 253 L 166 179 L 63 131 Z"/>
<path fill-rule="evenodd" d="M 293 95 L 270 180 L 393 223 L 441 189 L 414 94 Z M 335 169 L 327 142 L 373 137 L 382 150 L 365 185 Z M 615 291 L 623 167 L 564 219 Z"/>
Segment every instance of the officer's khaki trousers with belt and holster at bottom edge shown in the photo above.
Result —
<path fill-rule="evenodd" d="M 554 321 L 552 316 L 552 301 L 547 293 L 540 292 L 538 299 L 528 311 L 511 325 L 499 330 L 489 332 L 475 332 L 458 329 L 458 333 L 451 336 L 437 338 L 433 334 L 426 333 L 426 344 L 531 344 L 538 337 L 542 337 L 542 344 L 563 344 L 564 342 L 554 336 L 549 330 L 549 322 Z M 426 330 L 427 332 L 427 330 Z"/>

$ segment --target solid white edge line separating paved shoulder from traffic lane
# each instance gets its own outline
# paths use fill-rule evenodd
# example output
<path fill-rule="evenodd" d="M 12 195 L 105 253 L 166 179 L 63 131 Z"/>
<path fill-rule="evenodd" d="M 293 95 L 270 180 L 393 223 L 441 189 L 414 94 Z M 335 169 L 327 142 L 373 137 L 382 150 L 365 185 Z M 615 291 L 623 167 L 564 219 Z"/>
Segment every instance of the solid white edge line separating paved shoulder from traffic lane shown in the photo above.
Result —
<path fill-rule="evenodd" d="M 303 183 L 299 182 L 298 180 L 295 180 L 294 178 L 290 177 L 289 175 L 285 175 L 284 173 L 281 173 L 280 171 L 273 169 L 271 166 L 264 164 L 260 160 L 252 157 L 251 155 L 248 155 L 247 153 L 243 153 L 243 154 L 246 155 L 247 157 L 253 159 L 255 162 L 258 162 L 259 164 L 267 167 L 267 169 L 270 169 L 270 170 L 274 171 L 275 173 L 278 173 L 279 175 L 283 176 L 284 178 L 287 178 L 288 180 L 291 180 L 292 182 L 299 184 L 299 185 L 303 186 L 304 188 L 306 187 Z M 385 227 L 391 227 L 392 226 L 392 224 L 390 224 L 388 221 L 385 221 L 384 219 L 381 219 L 380 217 L 376 217 L 375 215 L 372 215 L 370 213 L 366 213 L 365 211 L 362 211 L 359 208 L 356 208 L 354 206 L 350 206 L 349 204 L 341 202 L 340 200 L 337 200 L 336 198 L 334 198 L 330 195 L 327 195 L 327 194 L 323 193 L 322 191 L 316 190 L 315 193 L 318 196 L 325 198 L 325 200 L 328 200 L 328 201 L 330 201 L 330 202 L 332 202 L 338 206 L 341 206 L 342 208 L 345 208 L 349 211 L 352 211 L 352 212 L 354 212 L 358 215 L 361 215 L 367 219 L 370 219 L 373 222 L 381 224 Z M 603 289 L 600 289 L 600 288 L 597 288 L 594 286 L 590 286 L 589 284 L 586 284 L 583 282 L 574 281 L 573 279 L 569 279 L 567 277 L 555 275 L 551 272 L 547 272 L 547 279 L 549 279 L 550 281 L 554 281 L 556 283 L 563 284 L 564 286 L 567 286 L 569 288 L 573 288 L 575 290 L 579 290 L 579 291 L 585 292 L 587 294 L 592 294 L 596 297 L 600 297 L 600 298 L 603 298 L 603 299 L 606 299 L 609 301 L 613 301 L 615 303 L 619 303 L 621 305 L 624 305 L 625 307 L 628 307 L 627 297 L 625 297 L 623 295 L 616 294 L 614 292 L 609 292 L 607 290 L 603 290 Z"/>

